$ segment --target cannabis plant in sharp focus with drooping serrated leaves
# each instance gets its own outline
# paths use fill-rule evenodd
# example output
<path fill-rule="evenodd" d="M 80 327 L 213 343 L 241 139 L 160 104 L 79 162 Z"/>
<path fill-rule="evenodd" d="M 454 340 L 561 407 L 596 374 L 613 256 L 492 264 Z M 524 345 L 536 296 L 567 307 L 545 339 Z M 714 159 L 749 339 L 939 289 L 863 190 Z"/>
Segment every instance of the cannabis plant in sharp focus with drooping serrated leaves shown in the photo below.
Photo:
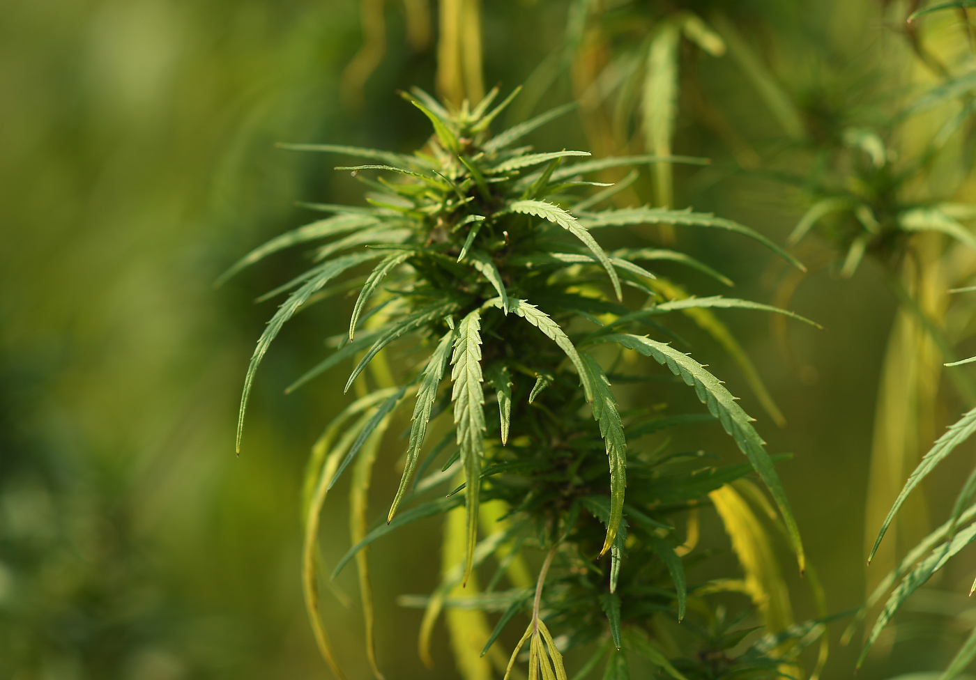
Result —
<path fill-rule="evenodd" d="M 433 621 L 443 608 L 460 608 L 502 613 L 470 663 L 478 662 L 479 651 L 498 660 L 500 634 L 524 617 L 510 660 L 498 662 L 507 677 L 527 649 L 530 678 L 564 679 L 563 651 L 588 645 L 591 658 L 578 677 L 604 660 L 604 677 L 628 677 L 622 650 L 678 679 L 777 676 L 823 626 L 790 627 L 781 617 L 767 635 L 744 642 L 749 608 L 728 615 L 713 598 L 727 597 L 716 594 L 722 591 L 752 594 L 763 615 L 773 606 L 770 598 L 755 597 L 759 586 L 752 581 L 689 580 L 685 562 L 702 558 L 692 552 L 699 506 L 711 502 L 726 519 L 746 525 L 755 521 L 746 497 L 771 509 L 745 479 L 752 472 L 779 508 L 802 571 L 799 532 L 752 418 L 705 366 L 671 344 L 675 336 L 664 320 L 674 311 L 709 307 L 800 317 L 747 300 L 678 296 L 676 284 L 645 266 L 668 260 L 725 279 L 673 250 L 608 253 L 593 234 L 640 224 L 708 227 L 749 236 L 802 265 L 735 221 L 690 209 L 599 210 L 619 187 L 588 180 L 593 173 L 695 159 L 536 152 L 518 142 L 572 106 L 492 135 L 492 122 L 516 94 L 491 108 L 496 89 L 476 106 L 454 108 L 415 90 L 408 99 L 434 134 L 412 155 L 293 145 L 369 161 L 337 168 L 368 187 L 367 205 L 310 205 L 331 217 L 271 240 L 227 272 L 287 247 L 317 244 L 313 266 L 268 294 L 288 298 L 251 359 L 238 450 L 256 371 L 282 325 L 316 300 L 359 291 L 347 329 L 330 339 L 334 351 L 293 385 L 354 361 L 345 390 L 357 398 L 315 444 L 305 479 L 305 599 L 318 645 L 344 677 L 318 615 L 316 541 L 328 492 L 351 466 L 354 544 L 333 576 L 355 561 L 377 675 L 365 548 L 414 520 L 444 515 L 441 584 L 428 597 L 402 601 L 426 610 L 425 657 Z M 640 364 L 639 357 L 664 371 L 650 370 L 655 364 Z M 666 376 L 691 387 L 706 408 L 677 414 L 651 408 L 671 389 Z M 621 394 L 634 408 L 620 407 Z M 399 488 L 370 528 L 374 462 L 404 406 L 412 416 L 403 431 Z M 671 451 L 654 436 L 715 420 L 747 461 L 717 464 L 703 452 Z M 538 570 L 529 577 L 533 564 Z M 479 575 L 489 579 L 480 589 Z M 477 616 L 481 622 L 468 619 L 469 628 L 483 625 L 484 615 Z"/>

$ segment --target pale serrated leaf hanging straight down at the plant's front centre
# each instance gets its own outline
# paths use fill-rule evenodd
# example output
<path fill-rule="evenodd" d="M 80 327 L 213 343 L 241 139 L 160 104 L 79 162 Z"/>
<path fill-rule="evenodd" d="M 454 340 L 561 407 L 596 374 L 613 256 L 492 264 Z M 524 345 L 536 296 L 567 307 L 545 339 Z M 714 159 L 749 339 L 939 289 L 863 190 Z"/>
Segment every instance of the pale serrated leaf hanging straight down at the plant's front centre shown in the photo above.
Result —
<path fill-rule="evenodd" d="M 454 389 L 454 424 L 458 430 L 461 462 L 465 466 L 465 504 L 468 508 L 468 543 L 465 554 L 465 579 L 474 568 L 474 544 L 478 531 L 478 496 L 480 492 L 481 458 L 484 456 L 485 403 L 481 388 L 481 315 L 475 309 L 468 313 L 458 327 L 451 357 L 451 380 Z"/>

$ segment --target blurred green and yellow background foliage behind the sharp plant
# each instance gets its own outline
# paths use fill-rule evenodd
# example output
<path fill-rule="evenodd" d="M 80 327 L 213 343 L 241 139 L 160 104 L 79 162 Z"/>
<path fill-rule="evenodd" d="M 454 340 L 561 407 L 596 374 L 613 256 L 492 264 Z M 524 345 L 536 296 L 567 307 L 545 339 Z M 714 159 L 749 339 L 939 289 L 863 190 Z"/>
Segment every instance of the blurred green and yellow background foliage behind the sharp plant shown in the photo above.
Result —
<path fill-rule="evenodd" d="M 587 97 L 599 93 L 592 84 L 606 82 L 609 75 L 599 76 L 608 67 L 625 59 L 645 63 L 650 43 L 638 52 L 644 41 L 656 31 L 672 36 L 681 26 L 676 46 L 669 38 L 671 52 L 656 53 L 670 55 L 675 65 L 670 80 L 655 81 L 676 84 L 675 113 L 655 120 L 671 125 L 672 152 L 714 162 L 704 170 L 674 166 L 673 206 L 694 204 L 785 243 L 806 210 L 838 194 L 866 201 L 875 219 L 935 202 L 973 202 L 966 173 L 974 138 L 966 125 L 946 138 L 944 152 L 921 174 L 897 188 L 890 183 L 897 178 L 881 172 L 923 156 L 920 147 L 960 110 L 953 108 L 956 99 L 948 100 L 911 122 L 887 126 L 900 102 L 946 82 L 947 72 L 967 72 L 971 9 L 968 20 L 955 8 L 907 24 L 919 9 L 915 3 L 872 0 L 5 3 L 0 675 L 166 680 L 327 672 L 302 612 L 297 490 L 308 448 L 343 404 L 328 384 L 280 396 L 321 352 L 318 339 L 328 335 L 327 326 L 299 315 L 276 340 L 252 397 L 248 449 L 234 460 L 240 371 L 269 315 L 250 299 L 283 280 L 298 258 L 270 260 L 217 293 L 211 283 L 254 244 L 306 220 L 293 201 L 351 200 L 347 178 L 332 176 L 318 159 L 275 150 L 274 141 L 407 151 L 426 139 L 423 121 L 404 115 L 392 93 L 414 84 L 448 87 L 446 76 L 435 75 L 436 24 L 448 6 L 468 16 L 480 7 L 484 82 L 526 83 L 508 122 L 524 119 L 544 98 L 579 98 L 582 119 L 568 117 L 540 131 L 537 143 L 597 153 L 610 142 L 633 151 L 665 139 L 641 127 L 646 108 L 637 92 L 627 106 L 617 103 L 620 90 L 610 89 L 612 97 L 597 98 L 595 106 Z M 587 10 L 582 15 L 572 9 L 580 6 Z M 383 49 L 371 58 L 374 70 L 357 81 L 349 64 L 368 42 L 361 27 L 367 9 L 385 20 Z M 574 24 L 581 16 L 585 21 Z M 724 54 L 703 50 L 688 36 L 680 21 L 689 16 L 722 39 Z M 592 42 L 581 44 L 595 57 L 574 51 L 567 39 L 574 25 L 583 26 Z M 460 82 L 473 87 L 471 79 Z M 631 89 L 646 82 L 633 76 Z M 358 109 L 343 94 L 356 91 L 344 89 L 348 83 L 361 93 Z M 615 128 L 617 109 L 629 117 Z M 600 115 L 609 122 L 600 123 Z M 881 170 L 874 164 L 877 143 L 870 135 L 845 134 L 850 129 L 874 130 L 885 149 Z M 610 140 L 607 147 L 598 145 L 601 139 Z M 623 177 L 626 172 L 603 179 Z M 641 173 L 631 184 L 634 194 L 621 199 L 666 203 L 663 186 L 660 176 Z M 807 552 L 821 567 L 829 608 L 840 612 L 864 601 L 864 545 L 874 542 L 915 461 L 963 403 L 939 369 L 946 359 L 921 328 L 922 317 L 892 295 L 893 273 L 910 298 L 923 302 L 925 318 L 944 323 L 947 341 L 958 342 L 957 356 L 973 354 L 976 345 L 971 296 L 951 303 L 945 296 L 956 281 L 970 283 L 965 249 L 941 234 L 884 241 L 905 243 L 912 258 L 922 256 L 915 262 L 892 260 L 867 242 L 872 257 L 856 270 L 848 267 L 852 276 L 842 279 L 851 246 L 870 229 L 856 206 L 818 224 L 797 246 L 810 268 L 807 278 L 785 275 L 732 239 L 675 234 L 682 250 L 736 281 L 736 297 L 789 304 L 828 328 L 827 334 L 793 328 L 789 337 L 770 340 L 765 329 L 722 317 L 743 355 L 752 357 L 767 400 L 748 371 L 740 373 L 742 362 L 727 347 L 713 346 L 694 319 L 677 330 L 743 395 L 747 411 L 765 410 L 772 420 L 773 403 L 787 421 L 779 431 L 766 419 L 758 424 L 771 450 L 795 454 L 780 474 Z M 922 267 L 928 278 L 918 273 Z M 679 269 L 663 265 L 662 271 Z M 703 275 L 694 290 L 706 281 Z M 352 301 L 336 302 L 337 314 L 346 314 Z M 903 311 L 889 336 L 898 304 Z M 786 352 L 777 351 L 783 347 Z M 879 382 L 892 385 L 881 390 L 891 407 L 877 411 L 875 427 Z M 906 405 L 902 413 L 915 414 L 909 420 L 895 410 Z M 893 446 L 878 443 L 882 431 Z M 695 444 L 680 437 L 676 446 L 705 442 L 724 451 L 719 433 L 695 432 Z M 381 452 L 378 470 L 386 471 L 374 480 L 378 495 L 395 490 L 400 453 Z M 900 515 L 907 521 L 897 530 L 901 538 L 882 543 L 892 543 L 889 559 L 931 529 L 926 515 L 951 514 L 971 456 L 971 443 L 963 445 L 926 479 L 927 493 Z M 870 497 L 869 466 L 874 488 L 883 486 Z M 345 524 L 342 508 L 328 512 Z M 373 546 L 378 600 L 434 587 L 441 541 L 433 529 L 419 527 Z M 703 515 L 700 533 L 703 543 L 728 548 L 698 565 L 698 577 L 734 571 L 734 546 L 722 526 Z M 782 552 L 782 545 L 773 549 Z M 326 547 L 325 559 L 334 563 L 340 550 Z M 973 579 L 972 554 L 960 553 L 907 601 L 859 677 L 947 665 L 971 627 L 964 593 Z M 886 570 L 882 564 L 870 571 Z M 794 618 L 816 616 L 805 584 L 788 573 L 784 579 Z M 354 584 L 341 579 L 337 587 Z M 346 609 L 328 591 L 323 608 L 349 674 L 367 677 L 356 608 Z M 709 622 L 715 640 L 727 622 Z M 456 676 L 445 647 L 431 650 L 434 670 L 423 668 L 414 637 L 420 624 L 414 610 L 378 612 L 381 667 L 400 677 Z M 834 646 L 824 677 L 848 677 L 859 648 Z"/>

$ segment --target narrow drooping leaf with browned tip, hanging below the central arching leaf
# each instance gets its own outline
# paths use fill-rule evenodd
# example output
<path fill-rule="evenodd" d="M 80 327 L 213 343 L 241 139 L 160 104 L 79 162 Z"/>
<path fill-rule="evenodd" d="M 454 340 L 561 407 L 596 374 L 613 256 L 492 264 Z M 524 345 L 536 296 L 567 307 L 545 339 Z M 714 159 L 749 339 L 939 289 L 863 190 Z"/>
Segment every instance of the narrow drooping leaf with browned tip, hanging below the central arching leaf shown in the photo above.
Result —
<path fill-rule="evenodd" d="M 624 436 L 624 423 L 617 411 L 617 400 L 610 389 L 610 380 L 600 368 L 599 363 L 589 352 L 580 352 L 584 366 L 593 384 L 593 401 L 590 407 L 593 419 L 600 425 L 600 436 L 606 447 L 610 463 L 610 518 L 607 521 L 607 535 L 600 554 L 604 554 L 617 538 L 617 530 L 624 516 L 624 490 L 627 487 L 627 439 Z"/>

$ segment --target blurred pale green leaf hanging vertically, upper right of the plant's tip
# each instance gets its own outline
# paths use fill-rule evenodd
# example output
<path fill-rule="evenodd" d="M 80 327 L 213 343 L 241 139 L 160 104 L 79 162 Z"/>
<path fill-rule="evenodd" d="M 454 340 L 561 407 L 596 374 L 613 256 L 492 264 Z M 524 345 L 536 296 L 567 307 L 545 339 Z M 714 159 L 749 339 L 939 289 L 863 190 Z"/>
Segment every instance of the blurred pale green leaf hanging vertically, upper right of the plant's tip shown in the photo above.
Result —
<path fill-rule="evenodd" d="M 678 26 L 665 22 L 651 39 L 644 77 L 643 105 L 645 146 L 661 156 L 671 155 L 674 117 L 677 113 L 677 50 L 680 45 Z M 658 203 L 671 206 L 673 188 L 671 165 L 662 163 L 654 169 Z"/>

